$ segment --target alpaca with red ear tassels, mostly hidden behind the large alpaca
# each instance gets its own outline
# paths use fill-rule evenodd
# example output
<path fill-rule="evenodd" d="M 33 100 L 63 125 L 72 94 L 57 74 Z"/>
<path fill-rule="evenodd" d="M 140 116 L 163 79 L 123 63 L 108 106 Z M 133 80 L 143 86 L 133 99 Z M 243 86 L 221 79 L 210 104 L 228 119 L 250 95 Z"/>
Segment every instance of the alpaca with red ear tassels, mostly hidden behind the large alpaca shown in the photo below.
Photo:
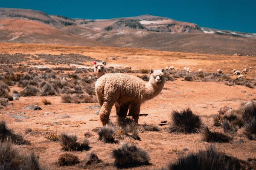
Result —
<path fill-rule="evenodd" d="M 102 62 L 93 62 L 94 64 L 94 73 L 97 75 L 97 78 L 102 77 L 105 75 L 105 65 L 107 62 L 102 61 Z M 127 114 L 128 108 L 129 108 L 130 103 L 125 103 L 123 105 L 119 105 L 119 103 L 116 102 L 115 107 L 116 107 L 116 115 L 119 114 Z"/>

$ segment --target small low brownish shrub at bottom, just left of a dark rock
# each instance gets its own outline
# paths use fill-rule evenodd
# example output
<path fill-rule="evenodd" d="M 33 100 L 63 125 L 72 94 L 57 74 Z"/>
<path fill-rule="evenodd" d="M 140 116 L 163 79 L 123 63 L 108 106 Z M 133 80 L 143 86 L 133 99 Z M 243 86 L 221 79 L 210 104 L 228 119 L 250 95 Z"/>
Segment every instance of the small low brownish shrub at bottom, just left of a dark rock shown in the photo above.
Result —
<path fill-rule="evenodd" d="M 78 164 L 80 161 L 78 159 L 78 156 L 75 156 L 71 153 L 64 153 L 59 156 L 58 164 L 60 166 L 70 166 Z"/>

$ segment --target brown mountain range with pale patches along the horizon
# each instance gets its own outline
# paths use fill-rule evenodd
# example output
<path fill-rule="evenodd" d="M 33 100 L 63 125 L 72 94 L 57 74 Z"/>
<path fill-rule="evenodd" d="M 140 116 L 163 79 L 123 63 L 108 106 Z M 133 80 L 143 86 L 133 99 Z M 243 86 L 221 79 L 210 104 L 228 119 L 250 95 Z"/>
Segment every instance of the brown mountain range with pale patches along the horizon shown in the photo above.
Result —
<path fill-rule="evenodd" d="M 166 17 L 141 15 L 73 19 L 42 11 L 0 8 L 0 42 L 147 48 L 256 56 L 256 34 L 204 28 Z"/>

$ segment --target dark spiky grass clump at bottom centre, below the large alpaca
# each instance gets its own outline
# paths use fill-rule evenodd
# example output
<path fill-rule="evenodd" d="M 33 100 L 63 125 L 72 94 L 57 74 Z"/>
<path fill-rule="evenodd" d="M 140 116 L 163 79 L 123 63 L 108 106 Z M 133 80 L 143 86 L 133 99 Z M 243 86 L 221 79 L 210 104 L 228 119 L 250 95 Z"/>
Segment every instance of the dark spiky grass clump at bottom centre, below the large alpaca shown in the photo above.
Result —
<path fill-rule="evenodd" d="M 114 164 L 118 168 L 138 167 L 150 164 L 148 153 L 135 144 L 122 144 L 120 148 L 113 150 L 112 156 L 115 159 Z"/>

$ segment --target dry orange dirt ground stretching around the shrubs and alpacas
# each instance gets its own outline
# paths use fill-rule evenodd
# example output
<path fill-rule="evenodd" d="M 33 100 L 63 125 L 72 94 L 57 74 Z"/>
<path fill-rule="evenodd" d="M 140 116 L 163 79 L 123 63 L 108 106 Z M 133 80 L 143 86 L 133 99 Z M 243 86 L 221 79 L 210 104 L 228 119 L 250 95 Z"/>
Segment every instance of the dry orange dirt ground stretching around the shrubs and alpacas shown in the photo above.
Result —
<path fill-rule="evenodd" d="M 110 47 L 74 47 L 59 45 L 34 45 L 34 44 L 0 44 L 0 53 L 24 53 L 24 54 L 61 54 L 75 53 L 91 56 L 96 59 L 107 61 L 108 65 L 131 66 L 134 69 L 141 68 L 164 68 L 174 65 L 175 69 L 190 67 L 193 71 L 201 68 L 203 71 L 215 72 L 221 68 L 224 73 L 232 73 L 233 68 L 242 70 L 245 67 L 253 67 L 247 77 L 256 76 L 256 57 L 243 56 L 224 56 L 224 55 L 206 55 L 206 54 L 188 54 L 165 51 L 153 51 L 137 48 L 110 48 Z M 112 57 L 119 56 L 119 59 L 112 60 Z M 123 59 L 122 57 L 127 57 Z M 91 63 L 88 63 L 92 65 Z M 54 66 L 54 65 L 53 65 Z M 11 87 L 11 90 L 21 91 L 17 86 Z M 239 108 L 241 102 L 247 102 L 254 99 L 256 90 L 246 86 L 227 86 L 224 82 L 186 82 L 182 78 L 174 82 L 166 82 L 163 91 L 154 99 L 145 102 L 141 107 L 141 113 L 148 116 L 140 116 L 140 124 L 157 125 L 161 121 L 170 122 L 172 110 L 180 110 L 190 107 L 194 113 L 201 116 L 202 121 L 210 130 L 221 130 L 220 127 L 213 126 L 213 116 L 218 110 L 229 105 L 232 108 Z M 47 99 L 52 105 L 43 105 L 41 99 Z M 101 127 L 99 115 L 95 114 L 96 109 L 86 109 L 88 106 L 98 105 L 98 103 L 67 104 L 61 102 L 60 96 L 31 96 L 20 97 L 12 101 L 0 110 L 1 119 L 6 120 L 15 132 L 25 136 L 25 139 L 31 141 L 30 146 L 18 146 L 25 150 L 34 150 L 40 157 L 40 163 L 49 169 L 77 169 L 76 166 L 59 167 L 56 165 L 58 156 L 61 153 L 61 146 L 58 142 L 52 142 L 44 138 L 43 133 L 52 130 L 57 133 L 76 134 L 81 141 L 84 133 L 90 131 L 94 136 L 90 137 L 89 151 L 73 151 L 72 153 L 84 159 L 87 153 L 96 153 L 99 159 L 113 164 L 114 159 L 111 152 L 118 148 L 120 144 L 105 144 L 98 140 L 98 135 L 92 130 Z M 41 111 L 25 110 L 27 105 L 39 105 Z M 23 113 L 17 114 L 19 112 Z M 54 112 L 54 113 L 52 113 Z M 68 114 L 70 118 L 61 119 L 62 114 Z M 29 116 L 29 119 L 14 119 L 9 115 Z M 115 108 L 111 111 L 111 120 L 116 119 Z M 58 123 L 54 123 L 58 122 Z M 25 134 L 24 130 L 30 127 L 37 133 Z M 134 169 L 154 169 L 165 166 L 169 162 L 174 162 L 183 154 L 196 152 L 198 149 L 205 149 L 210 143 L 204 142 L 201 134 L 175 134 L 169 133 L 168 125 L 159 126 L 159 132 L 140 133 L 141 141 L 126 138 L 120 142 L 132 142 L 146 150 L 151 156 L 150 166 L 137 167 Z M 214 143 L 217 148 L 228 155 L 246 160 L 247 157 L 256 156 L 256 141 L 247 139 L 239 129 L 235 139 L 230 143 Z M 244 143 L 239 143 L 243 139 Z M 183 150 L 183 148 L 188 150 Z M 98 168 L 101 169 L 101 168 Z M 104 167 L 104 169 L 115 169 L 113 165 Z"/>

